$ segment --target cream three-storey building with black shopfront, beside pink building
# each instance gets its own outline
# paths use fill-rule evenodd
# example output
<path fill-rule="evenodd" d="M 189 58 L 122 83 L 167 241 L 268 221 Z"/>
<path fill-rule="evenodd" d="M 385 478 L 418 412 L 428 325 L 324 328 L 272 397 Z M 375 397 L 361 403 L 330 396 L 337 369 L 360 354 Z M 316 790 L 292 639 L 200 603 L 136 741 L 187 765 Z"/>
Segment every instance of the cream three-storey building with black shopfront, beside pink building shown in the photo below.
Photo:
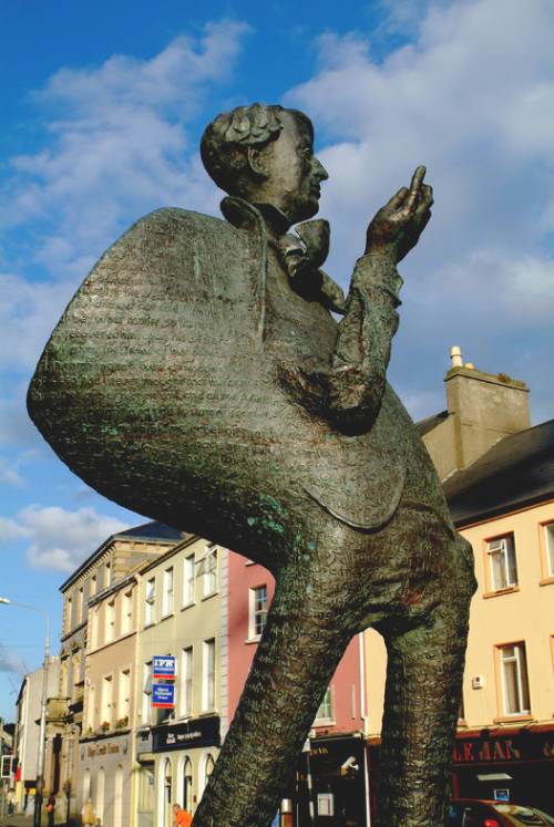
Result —
<path fill-rule="evenodd" d="M 226 697 L 226 549 L 189 536 L 141 569 L 136 682 L 137 826 L 194 813 L 218 755 Z M 156 709 L 155 657 L 176 663 L 175 706 Z M 167 684 L 166 684 L 167 685 Z"/>

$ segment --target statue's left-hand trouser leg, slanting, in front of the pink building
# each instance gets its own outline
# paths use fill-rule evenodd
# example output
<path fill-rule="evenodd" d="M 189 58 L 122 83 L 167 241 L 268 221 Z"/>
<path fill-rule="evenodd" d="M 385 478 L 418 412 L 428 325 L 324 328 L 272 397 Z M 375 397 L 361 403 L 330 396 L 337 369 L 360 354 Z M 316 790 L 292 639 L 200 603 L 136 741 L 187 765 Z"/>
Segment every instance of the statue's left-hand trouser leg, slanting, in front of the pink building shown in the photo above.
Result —
<path fill-rule="evenodd" d="M 277 588 L 263 640 L 194 827 L 268 827 L 348 645 L 302 571 Z"/>

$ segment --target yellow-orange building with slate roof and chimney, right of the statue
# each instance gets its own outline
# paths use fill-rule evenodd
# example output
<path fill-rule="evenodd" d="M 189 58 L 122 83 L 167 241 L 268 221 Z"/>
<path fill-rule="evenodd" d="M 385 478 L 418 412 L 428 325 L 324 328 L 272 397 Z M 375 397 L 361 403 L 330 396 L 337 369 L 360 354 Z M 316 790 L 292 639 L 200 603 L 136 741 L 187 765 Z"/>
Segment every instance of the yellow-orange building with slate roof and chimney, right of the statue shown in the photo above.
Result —
<path fill-rule="evenodd" d="M 554 812 L 554 421 L 527 390 L 455 365 L 448 410 L 420 423 L 454 523 L 475 556 L 454 795 Z M 386 650 L 366 632 L 370 775 L 378 776 Z"/>

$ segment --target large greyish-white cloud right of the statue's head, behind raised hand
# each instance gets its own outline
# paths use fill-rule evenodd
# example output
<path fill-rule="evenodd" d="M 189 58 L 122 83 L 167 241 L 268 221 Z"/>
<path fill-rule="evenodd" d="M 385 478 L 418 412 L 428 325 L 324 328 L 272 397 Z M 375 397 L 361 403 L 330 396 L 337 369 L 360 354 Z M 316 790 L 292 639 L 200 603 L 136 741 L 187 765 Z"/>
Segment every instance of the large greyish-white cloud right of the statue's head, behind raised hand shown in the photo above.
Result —
<path fill-rule="evenodd" d="M 378 61 L 370 35 L 326 34 L 318 72 L 286 95 L 322 126 L 329 270 L 348 275 L 375 210 L 425 163 L 435 206 L 400 268 L 396 381 L 421 401 L 453 343 L 483 370 L 519 375 L 531 361 L 552 375 L 554 6 L 413 0 L 397 12 L 410 43 Z M 552 382 L 532 399 L 552 416 Z"/>

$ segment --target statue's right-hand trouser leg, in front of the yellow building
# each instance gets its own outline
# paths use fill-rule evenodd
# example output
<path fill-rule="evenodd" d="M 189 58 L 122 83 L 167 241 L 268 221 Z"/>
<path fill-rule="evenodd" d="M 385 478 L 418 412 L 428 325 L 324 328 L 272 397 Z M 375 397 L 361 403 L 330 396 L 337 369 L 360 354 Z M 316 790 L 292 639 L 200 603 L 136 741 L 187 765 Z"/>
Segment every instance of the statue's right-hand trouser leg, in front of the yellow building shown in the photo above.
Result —
<path fill-rule="evenodd" d="M 472 573 L 461 567 L 424 622 L 383 631 L 388 668 L 375 827 L 445 823 L 473 590 Z"/>

